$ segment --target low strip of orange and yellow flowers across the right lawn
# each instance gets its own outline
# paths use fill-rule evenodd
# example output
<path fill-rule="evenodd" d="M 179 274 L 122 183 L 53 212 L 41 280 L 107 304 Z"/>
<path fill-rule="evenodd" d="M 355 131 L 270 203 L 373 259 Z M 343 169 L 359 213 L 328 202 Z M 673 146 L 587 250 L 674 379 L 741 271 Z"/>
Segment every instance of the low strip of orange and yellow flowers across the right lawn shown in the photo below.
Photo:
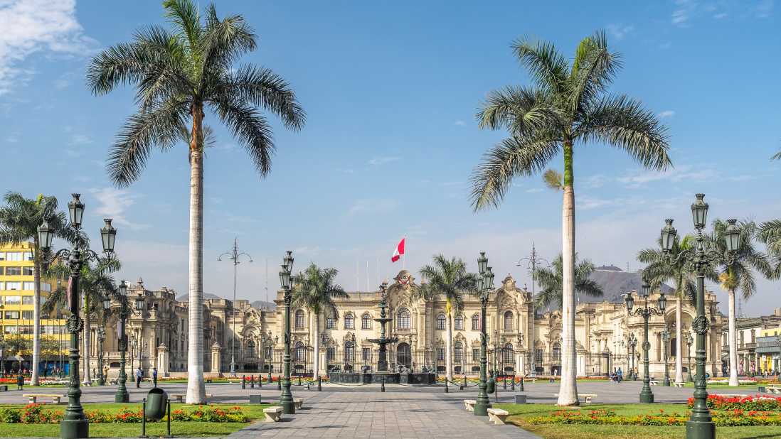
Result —
<path fill-rule="evenodd" d="M 711 412 L 713 422 L 719 427 L 781 426 L 781 414 L 776 412 L 758 412 L 732 410 Z M 658 415 L 620 416 L 609 410 L 561 410 L 551 416 L 533 416 L 527 422 L 542 424 L 591 424 L 591 425 L 641 425 L 641 426 L 683 426 L 689 420 L 689 413 L 665 413 Z"/>

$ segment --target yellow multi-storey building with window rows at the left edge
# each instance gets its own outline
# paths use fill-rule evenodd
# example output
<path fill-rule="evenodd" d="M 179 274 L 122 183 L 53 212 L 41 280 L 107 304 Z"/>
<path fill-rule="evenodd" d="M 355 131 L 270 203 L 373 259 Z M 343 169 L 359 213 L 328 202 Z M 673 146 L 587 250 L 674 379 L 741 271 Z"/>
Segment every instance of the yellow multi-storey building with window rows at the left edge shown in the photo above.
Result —
<path fill-rule="evenodd" d="M 56 285 L 41 280 L 41 304 Z M 34 261 L 31 243 L 0 245 L 0 334 L 9 342 L 17 336 L 33 338 L 34 327 Z M 65 320 L 48 318 L 57 316 L 41 315 L 41 373 L 45 367 L 51 370 L 59 366 L 60 358 L 66 348 Z M 57 349 L 59 345 L 60 349 Z M 7 352 L 8 349 L 5 349 Z M 23 367 L 30 368 L 32 360 L 32 342 L 30 349 L 22 352 L 26 360 Z M 18 369 L 19 363 L 9 361 L 4 354 L 3 366 L 7 372 Z M 44 366 L 46 365 L 46 366 Z"/>

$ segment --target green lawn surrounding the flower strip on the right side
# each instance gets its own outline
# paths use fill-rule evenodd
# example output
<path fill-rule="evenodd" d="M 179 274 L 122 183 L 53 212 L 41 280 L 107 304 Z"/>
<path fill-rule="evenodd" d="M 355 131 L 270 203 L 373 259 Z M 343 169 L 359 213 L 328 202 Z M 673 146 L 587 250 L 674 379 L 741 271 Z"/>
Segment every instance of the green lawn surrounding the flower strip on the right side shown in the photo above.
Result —
<path fill-rule="evenodd" d="M 561 410 L 553 404 L 497 404 L 497 408 L 510 412 L 510 420 L 519 427 L 539 434 L 546 439 L 679 439 L 686 436 L 686 427 L 648 427 L 629 425 L 531 425 L 526 419 L 531 416 L 551 415 Z M 685 404 L 590 404 L 583 410 L 612 410 L 617 415 L 633 416 L 655 414 L 659 410 L 665 413 L 686 412 Z M 719 439 L 748 439 L 751 437 L 781 437 L 781 427 L 717 427 Z"/>

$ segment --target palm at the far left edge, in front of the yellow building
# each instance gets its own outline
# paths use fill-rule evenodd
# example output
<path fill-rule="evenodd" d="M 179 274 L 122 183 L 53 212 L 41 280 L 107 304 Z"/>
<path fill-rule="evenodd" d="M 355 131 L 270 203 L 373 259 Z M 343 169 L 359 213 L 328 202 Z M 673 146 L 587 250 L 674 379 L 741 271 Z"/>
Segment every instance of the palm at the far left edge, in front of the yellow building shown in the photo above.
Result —
<path fill-rule="evenodd" d="M 67 237 L 65 214 L 57 211 L 54 196 L 39 195 L 29 199 L 20 193 L 6 193 L 5 206 L 0 207 L 0 244 L 32 243 L 33 245 L 33 385 L 38 384 L 38 364 L 41 361 L 41 246 L 38 243 L 38 226 L 48 219 L 49 226 L 59 237 Z"/>

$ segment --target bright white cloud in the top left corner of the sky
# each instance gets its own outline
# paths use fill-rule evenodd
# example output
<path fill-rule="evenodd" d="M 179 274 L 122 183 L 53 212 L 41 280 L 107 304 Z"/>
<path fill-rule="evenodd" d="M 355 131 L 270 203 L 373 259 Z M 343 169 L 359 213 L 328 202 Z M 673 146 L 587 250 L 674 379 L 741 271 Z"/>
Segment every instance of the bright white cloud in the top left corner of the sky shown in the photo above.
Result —
<path fill-rule="evenodd" d="M 76 18 L 76 0 L 2 0 L 0 30 L 0 95 L 34 74 L 20 66 L 28 56 L 84 55 L 95 43 Z"/>

